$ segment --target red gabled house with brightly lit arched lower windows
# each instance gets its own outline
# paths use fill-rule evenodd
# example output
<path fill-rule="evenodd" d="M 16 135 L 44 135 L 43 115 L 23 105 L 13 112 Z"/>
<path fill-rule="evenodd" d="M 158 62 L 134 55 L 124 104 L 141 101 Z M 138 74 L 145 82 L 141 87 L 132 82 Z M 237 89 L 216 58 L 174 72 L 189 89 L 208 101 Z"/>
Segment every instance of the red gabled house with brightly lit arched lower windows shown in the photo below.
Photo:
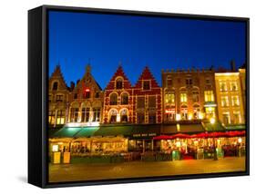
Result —
<path fill-rule="evenodd" d="M 121 65 L 104 94 L 104 123 L 132 122 L 132 86 Z"/>

